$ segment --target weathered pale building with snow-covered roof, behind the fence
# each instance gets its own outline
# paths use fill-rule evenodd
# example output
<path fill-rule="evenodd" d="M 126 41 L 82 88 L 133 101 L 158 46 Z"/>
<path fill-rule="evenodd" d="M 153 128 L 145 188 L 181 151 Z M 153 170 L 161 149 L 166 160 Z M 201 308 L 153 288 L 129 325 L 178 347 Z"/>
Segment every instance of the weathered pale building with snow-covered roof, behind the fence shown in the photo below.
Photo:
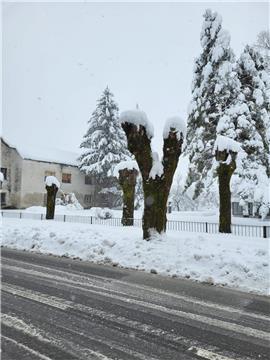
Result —
<path fill-rule="evenodd" d="M 98 196 L 100 187 L 93 177 L 79 171 L 77 158 L 78 154 L 67 151 L 17 149 L 1 138 L 1 172 L 4 177 L 0 189 L 1 207 L 44 206 L 44 179 L 49 175 L 56 176 L 61 190 L 73 192 L 83 207 L 102 206 Z M 61 196 L 61 191 L 57 196 Z"/>

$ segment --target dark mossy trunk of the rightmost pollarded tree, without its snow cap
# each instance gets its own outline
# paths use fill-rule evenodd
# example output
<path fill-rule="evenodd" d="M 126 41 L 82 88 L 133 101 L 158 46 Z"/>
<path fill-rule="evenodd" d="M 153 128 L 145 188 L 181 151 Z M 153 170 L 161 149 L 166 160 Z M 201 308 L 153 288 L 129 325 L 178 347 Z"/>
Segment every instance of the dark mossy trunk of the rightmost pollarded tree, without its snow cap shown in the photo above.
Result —
<path fill-rule="evenodd" d="M 227 163 L 228 156 L 231 161 Z M 216 151 L 216 160 L 219 161 L 217 169 L 219 181 L 219 232 L 231 233 L 231 190 L 230 181 L 234 170 L 236 169 L 236 153 Z"/>

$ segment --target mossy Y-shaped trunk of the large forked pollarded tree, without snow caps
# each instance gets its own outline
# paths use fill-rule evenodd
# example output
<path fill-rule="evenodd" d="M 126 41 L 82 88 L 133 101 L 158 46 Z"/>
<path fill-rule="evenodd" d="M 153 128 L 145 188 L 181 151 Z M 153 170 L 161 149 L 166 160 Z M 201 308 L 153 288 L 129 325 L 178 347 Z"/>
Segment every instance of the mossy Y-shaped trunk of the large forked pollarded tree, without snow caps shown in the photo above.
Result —
<path fill-rule="evenodd" d="M 143 238 L 149 240 L 152 231 L 166 231 L 167 201 L 178 164 L 183 138 L 170 131 L 163 145 L 163 175 L 149 178 L 153 165 L 151 139 L 147 136 L 144 126 L 137 127 L 131 123 L 123 123 L 128 149 L 135 156 L 141 171 L 144 192 Z"/>

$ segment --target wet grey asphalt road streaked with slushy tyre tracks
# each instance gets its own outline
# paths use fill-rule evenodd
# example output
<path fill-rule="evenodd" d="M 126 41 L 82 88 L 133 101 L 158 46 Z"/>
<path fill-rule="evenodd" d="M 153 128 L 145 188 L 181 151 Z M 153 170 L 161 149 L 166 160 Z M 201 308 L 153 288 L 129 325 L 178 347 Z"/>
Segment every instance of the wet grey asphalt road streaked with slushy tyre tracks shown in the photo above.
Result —
<path fill-rule="evenodd" d="M 270 359 L 269 299 L 2 248 L 2 360 Z"/>

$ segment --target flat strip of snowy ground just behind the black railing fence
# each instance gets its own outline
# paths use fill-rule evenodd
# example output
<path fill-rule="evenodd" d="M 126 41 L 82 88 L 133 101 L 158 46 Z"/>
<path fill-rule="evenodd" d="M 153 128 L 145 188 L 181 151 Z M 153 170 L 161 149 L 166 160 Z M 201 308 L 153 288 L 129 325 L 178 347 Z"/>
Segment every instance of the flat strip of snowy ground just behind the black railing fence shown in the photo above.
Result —
<path fill-rule="evenodd" d="M 29 212 L 37 214 L 45 214 L 46 208 L 42 206 L 31 206 L 25 210 L 5 210 L 11 212 Z M 114 218 L 122 217 L 122 210 L 111 210 Z M 80 216 L 95 216 L 95 208 L 89 210 L 78 210 L 73 206 L 61 206 L 57 205 L 55 214 L 66 214 L 66 215 L 80 215 Z M 179 220 L 179 221 L 197 221 L 197 222 L 208 222 L 218 223 L 219 211 L 218 209 L 204 210 L 204 211 L 173 211 L 171 214 L 167 214 L 168 220 Z M 134 212 L 135 219 L 142 218 L 142 211 L 138 210 Z M 243 217 L 232 217 L 233 224 L 245 224 L 245 225 L 267 225 L 270 226 L 270 220 L 261 220 L 258 218 L 243 218 Z"/>

